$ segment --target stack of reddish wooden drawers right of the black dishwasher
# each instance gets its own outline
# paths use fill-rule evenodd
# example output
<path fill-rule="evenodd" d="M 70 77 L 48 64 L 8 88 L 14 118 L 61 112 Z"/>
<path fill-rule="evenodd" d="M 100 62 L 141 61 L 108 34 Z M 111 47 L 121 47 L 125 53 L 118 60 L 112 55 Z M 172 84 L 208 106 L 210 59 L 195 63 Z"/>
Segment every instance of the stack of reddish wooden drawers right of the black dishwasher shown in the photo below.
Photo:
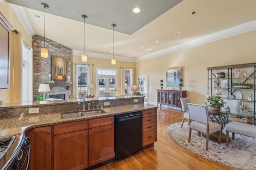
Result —
<path fill-rule="evenodd" d="M 157 141 L 157 109 L 142 111 L 142 147 Z"/>

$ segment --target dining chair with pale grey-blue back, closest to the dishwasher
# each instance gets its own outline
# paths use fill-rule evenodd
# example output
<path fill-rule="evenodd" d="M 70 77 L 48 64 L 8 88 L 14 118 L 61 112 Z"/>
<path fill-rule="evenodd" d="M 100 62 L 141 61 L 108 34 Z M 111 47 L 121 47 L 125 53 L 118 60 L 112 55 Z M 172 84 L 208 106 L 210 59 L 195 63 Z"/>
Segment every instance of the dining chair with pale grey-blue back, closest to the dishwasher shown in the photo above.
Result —
<path fill-rule="evenodd" d="M 191 129 L 198 131 L 198 136 L 201 136 L 201 132 L 206 134 L 206 147 L 208 150 L 209 136 L 211 133 L 218 132 L 218 144 L 220 144 L 221 138 L 221 125 L 209 121 L 208 110 L 206 105 L 188 103 L 189 113 L 189 137 L 188 142 L 191 139 Z"/>

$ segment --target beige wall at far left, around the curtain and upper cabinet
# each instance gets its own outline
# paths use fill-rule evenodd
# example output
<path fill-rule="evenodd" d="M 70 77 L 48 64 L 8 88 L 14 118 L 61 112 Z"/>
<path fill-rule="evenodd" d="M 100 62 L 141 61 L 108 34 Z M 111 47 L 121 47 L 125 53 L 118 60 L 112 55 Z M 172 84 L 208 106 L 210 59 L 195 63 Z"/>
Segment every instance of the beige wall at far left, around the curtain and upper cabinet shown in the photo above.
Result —
<path fill-rule="evenodd" d="M 13 26 L 13 29 L 17 29 L 18 31 L 22 32 L 23 34 L 23 39 L 25 43 L 29 46 L 32 47 L 32 39 L 29 37 L 28 33 L 26 32 L 25 28 L 23 27 L 22 23 L 16 16 L 16 13 L 10 6 L 10 4 L 6 2 L 0 2 L 0 12 L 3 14 L 3 16 L 9 21 L 9 23 Z M 13 30 L 12 29 L 12 30 Z M 10 88 L 9 89 L 2 89 L 0 90 L 0 98 L 4 100 L 4 103 L 12 103 L 13 101 L 13 95 L 12 94 L 18 94 L 20 95 L 20 90 L 13 91 L 13 79 L 15 77 L 18 77 L 20 75 L 13 75 L 13 49 L 12 49 L 12 34 L 10 34 Z M 15 69 L 15 68 L 14 68 Z M 17 86 L 17 85 L 16 85 Z"/>

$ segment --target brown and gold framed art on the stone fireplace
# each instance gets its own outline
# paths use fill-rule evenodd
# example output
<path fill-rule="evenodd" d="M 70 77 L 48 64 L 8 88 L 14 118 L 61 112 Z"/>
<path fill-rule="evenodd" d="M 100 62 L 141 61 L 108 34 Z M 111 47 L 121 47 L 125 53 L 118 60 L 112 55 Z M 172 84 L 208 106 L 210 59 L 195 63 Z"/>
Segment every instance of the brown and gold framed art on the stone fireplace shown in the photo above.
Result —
<path fill-rule="evenodd" d="M 61 57 L 51 56 L 51 73 L 52 80 L 65 81 L 67 80 L 67 60 Z"/>

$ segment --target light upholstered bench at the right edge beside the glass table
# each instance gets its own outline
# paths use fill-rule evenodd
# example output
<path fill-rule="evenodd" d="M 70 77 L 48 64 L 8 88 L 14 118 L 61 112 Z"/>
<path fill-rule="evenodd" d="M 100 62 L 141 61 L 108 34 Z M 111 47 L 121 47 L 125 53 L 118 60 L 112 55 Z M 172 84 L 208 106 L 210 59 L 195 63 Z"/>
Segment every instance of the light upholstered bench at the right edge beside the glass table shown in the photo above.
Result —
<path fill-rule="evenodd" d="M 228 145 L 228 141 L 229 141 L 229 137 L 228 137 L 229 132 L 232 132 L 232 140 L 234 140 L 235 138 L 235 133 L 256 138 L 256 126 L 254 125 L 232 121 L 226 124 L 225 128 L 226 128 L 226 145 Z"/>

